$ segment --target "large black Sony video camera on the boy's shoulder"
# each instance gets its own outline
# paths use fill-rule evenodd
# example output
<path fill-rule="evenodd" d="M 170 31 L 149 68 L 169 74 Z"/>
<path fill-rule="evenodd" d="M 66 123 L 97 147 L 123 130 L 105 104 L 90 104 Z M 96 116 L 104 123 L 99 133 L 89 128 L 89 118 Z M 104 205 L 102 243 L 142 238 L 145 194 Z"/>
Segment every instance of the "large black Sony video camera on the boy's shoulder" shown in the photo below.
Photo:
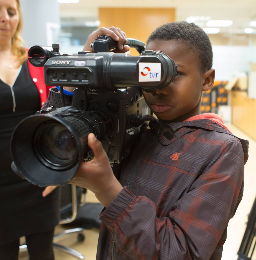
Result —
<path fill-rule="evenodd" d="M 145 51 L 143 42 L 128 39 L 141 54 L 114 53 L 108 36 L 92 44 L 94 53 L 59 52 L 59 45 L 33 46 L 28 51 L 34 66 L 44 66 L 45 84 L 60 86 L 63 107 L 49 107 L 25 118 L 15 128 L 11 153 L 19 174 L 45 187 L 64 185 L 80 164 L 93 159 L 87 136 L 102 142 L 111 166 L 130 154 L 136 137 L 148 124 L 142 89 L 154 92 L 173 81 L 174 61 L 161 51 Z M 76 86 L 72 106 L 66 106 L 63 86 Z"/>

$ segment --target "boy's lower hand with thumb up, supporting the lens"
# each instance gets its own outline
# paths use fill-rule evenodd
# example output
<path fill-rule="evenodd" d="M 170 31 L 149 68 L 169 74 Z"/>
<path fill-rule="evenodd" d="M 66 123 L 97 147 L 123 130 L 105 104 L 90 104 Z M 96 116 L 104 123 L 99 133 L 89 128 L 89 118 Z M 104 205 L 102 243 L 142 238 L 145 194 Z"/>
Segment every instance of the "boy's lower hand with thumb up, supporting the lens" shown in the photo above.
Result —
<path fill-rule="evenodd" d="M 101 142 L 93 133 L 88 135 L 88 145 L 94 153 L 94 158 L 82 163 L 69 183 L 91 190 L 107 207 L 123 187 L 112 171 Z"/>

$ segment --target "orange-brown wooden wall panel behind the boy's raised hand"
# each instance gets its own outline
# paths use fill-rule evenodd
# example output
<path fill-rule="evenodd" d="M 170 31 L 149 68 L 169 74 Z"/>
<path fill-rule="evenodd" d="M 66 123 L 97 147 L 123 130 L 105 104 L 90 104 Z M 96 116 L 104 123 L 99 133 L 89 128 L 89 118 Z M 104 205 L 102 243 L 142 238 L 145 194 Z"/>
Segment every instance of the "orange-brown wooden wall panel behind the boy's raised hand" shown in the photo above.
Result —
<path fill-rule="evenodd" d="M 128 38 L 146 43 L 156 27 L 176 21 L 175 8 L 99 8 L 100 27 L 121 28 Z M 131 55 L 138 55 L 131 49 Z"/>

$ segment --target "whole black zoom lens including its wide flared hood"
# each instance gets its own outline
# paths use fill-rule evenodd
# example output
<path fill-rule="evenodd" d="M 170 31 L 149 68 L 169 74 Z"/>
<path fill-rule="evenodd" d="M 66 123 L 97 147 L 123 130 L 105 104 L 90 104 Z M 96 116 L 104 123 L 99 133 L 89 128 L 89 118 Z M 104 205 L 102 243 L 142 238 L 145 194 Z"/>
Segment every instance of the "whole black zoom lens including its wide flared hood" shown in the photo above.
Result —
<path fill-rule="evenodd" d="M 64 185 L 90 150 L 89 133 L 103 140 L 112 131 L 112 125 L 111 117 L 101 110 L 64 118 L 51 113 L 30 116 L 13 132 L 13 161 L 23 177 L 35 185 Z"/>

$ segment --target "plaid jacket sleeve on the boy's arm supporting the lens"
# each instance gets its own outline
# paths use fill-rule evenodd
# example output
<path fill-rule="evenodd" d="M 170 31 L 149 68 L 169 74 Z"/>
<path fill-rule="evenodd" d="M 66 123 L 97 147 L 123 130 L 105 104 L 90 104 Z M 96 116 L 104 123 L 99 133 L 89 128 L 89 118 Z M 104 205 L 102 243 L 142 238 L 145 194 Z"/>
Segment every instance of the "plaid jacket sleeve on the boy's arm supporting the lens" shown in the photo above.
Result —
<path fill-rule="evenodd" d="M 210 259 L 242 198 L 243 174 L 242 145 L 233 138 L 220 146 L 169 217 L 157 218 L 150 199 L 124 187 L 99 218 L 132 259 Z"/>

